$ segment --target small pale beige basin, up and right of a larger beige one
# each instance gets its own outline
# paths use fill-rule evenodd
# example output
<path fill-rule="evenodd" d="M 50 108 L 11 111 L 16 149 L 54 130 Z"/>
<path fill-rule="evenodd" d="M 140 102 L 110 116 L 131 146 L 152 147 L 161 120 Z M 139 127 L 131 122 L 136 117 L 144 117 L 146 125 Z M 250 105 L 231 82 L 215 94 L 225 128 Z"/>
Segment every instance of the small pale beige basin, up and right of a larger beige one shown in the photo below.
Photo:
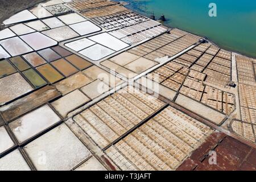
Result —
<path fill-rule="evenodd" d="M 95 80 L 81 88 L 82 92 L 84 92 L 86 96 L 90 97 L 92 100 L 101 94 L 108 92 L 109 89 L 109 85 L 100 80 Z"/>

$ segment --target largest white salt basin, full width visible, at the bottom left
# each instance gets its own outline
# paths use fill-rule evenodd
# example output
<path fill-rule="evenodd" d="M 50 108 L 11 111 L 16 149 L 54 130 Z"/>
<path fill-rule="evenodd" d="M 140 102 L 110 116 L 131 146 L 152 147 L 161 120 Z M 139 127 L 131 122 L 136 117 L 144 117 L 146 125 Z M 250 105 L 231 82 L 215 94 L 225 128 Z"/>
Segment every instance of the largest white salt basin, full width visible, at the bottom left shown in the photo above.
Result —
<path fill-rule="evenodd" d="M 24 147 L 32 163 L 39 171 L 67 171 L 76 167 L 91 153 L 64 123 Z M 40 163 L 40 152 L 46 163 Z"/>

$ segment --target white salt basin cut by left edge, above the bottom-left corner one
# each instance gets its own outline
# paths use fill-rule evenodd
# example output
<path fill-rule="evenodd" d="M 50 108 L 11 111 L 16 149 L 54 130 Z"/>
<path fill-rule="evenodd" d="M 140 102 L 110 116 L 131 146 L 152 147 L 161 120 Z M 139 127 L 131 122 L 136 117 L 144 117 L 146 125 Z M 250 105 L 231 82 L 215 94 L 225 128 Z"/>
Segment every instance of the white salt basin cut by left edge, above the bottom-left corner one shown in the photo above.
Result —
<path fill-rule="evenodd" d="M 14 142 L 7 133 L 5 126 L 0 127 L 0 154 L 14 146 Z"/>

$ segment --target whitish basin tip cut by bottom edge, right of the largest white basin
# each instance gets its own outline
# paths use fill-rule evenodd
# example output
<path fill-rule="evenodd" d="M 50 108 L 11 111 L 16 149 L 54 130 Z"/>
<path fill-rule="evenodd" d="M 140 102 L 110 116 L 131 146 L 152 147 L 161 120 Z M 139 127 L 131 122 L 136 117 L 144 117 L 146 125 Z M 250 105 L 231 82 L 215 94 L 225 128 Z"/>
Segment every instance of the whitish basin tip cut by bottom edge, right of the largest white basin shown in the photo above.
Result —
<path fill-rule="evenodd" d="M 77 167 L 75 171 L 106 171 L 106 168 L 93 156 Z"/>

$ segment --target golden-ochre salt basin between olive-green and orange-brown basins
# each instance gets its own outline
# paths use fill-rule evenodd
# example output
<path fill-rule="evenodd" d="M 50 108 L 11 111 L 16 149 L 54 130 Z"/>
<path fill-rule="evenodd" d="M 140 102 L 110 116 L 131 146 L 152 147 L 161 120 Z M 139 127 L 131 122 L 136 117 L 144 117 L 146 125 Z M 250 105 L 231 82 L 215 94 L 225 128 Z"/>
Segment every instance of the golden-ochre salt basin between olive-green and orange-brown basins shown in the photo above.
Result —
<path fill-rule="evenodd" d="M 40 67 L 36 68 L 46 80 L 48 80 L 50 83 L 56 82 L 64 78 L 62 75 L 60 75 L 59 72 L 56 71 L 51 65 L 44 64 Z"/>

